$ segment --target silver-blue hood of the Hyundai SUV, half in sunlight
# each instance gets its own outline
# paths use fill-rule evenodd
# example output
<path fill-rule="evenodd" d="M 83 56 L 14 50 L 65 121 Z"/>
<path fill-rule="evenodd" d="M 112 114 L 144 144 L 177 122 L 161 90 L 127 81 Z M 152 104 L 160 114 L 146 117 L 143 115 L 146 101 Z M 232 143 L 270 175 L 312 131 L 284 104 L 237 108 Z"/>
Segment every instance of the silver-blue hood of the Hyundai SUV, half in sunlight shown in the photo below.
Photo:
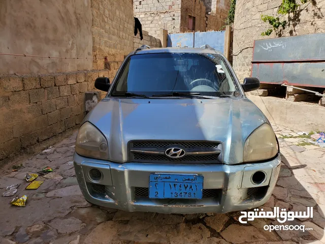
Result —
<path fill-rule="evenodd" d="M 85 117 L 106 136 L 109 160 L 127 161 L 132 140 L 207 140 L 223 144 L 223 163 L 243 161 L 247 137 L 268 123 L 247 98 L 106 98 Z"/>

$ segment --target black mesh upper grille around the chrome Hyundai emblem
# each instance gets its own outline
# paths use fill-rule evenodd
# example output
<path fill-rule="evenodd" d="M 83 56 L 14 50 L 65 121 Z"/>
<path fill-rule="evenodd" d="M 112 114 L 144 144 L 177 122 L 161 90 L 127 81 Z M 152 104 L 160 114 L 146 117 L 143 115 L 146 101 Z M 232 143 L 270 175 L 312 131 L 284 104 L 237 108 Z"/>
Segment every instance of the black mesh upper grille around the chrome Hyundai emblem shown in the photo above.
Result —
<path fill-rule="evenodd" d="M 211 155 L 185 155 L 179 159 L 172 159 L 167 157 L 166 155 L 158 155 L 158 154 L 142 154 L 137 152 L 132 152 L 132 149 L 145 149 L 145 148 L 156 148 L 157 150 L 165 150 L 169 146 L 180 146 L 186 149 L 198 149 L 198 150 L 206 150 L 209 149 L 221 149 L 220 142 L 211 142 L 211 141 L 131 141 L 128 144 L 129 147 L 129 162 L 186 162 L 186 163 L 221 163 L 221 155 L 219 154 L 211 154 Z"/>

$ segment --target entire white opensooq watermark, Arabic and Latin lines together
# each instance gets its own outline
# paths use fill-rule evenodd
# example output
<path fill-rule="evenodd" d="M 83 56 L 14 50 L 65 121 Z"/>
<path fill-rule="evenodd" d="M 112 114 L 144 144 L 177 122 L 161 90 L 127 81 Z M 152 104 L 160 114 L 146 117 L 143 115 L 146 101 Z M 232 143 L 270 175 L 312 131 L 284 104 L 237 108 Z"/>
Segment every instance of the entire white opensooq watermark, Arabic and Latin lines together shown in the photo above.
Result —
<path fill-rule="evenodd" d="M 279 207 L 274 207 L 273 211 L 264 211 L 263 208 L 259 211 L 255 208 L 254 211 L 241 211 L 242 216 L 239 217 L 239 222 L 246 224 L 247 221 L 253 221 L 254 219 L 264 218 L 264 219 L 276 219 L 279 223 L 284 223 L 286 221 L 293 221 L 296 218 L 299 219 L 309 219 L 313 218 L 313 207 L 307 207 L 307 212 L 305 211 L 286 211 L 286 209 Z M 243 220 L 243 218 L 247 219 Z M 265 225 L 265 230 L 312 230 L 312 228 L 305 228 L 304 225 Z"/>

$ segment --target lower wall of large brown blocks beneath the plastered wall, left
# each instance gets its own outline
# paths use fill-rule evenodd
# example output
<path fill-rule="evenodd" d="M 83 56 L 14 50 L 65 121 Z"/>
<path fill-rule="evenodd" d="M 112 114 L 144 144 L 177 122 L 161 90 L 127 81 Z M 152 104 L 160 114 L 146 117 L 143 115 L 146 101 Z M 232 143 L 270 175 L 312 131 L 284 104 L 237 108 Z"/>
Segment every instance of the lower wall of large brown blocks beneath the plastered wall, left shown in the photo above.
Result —
<path fill-rule="evenodd" d="M 0 76 L 0 161 L 38 143 L 50 145 L 78 127 L 85 93 L 94 89 L 95 78 L 112 75 L 101 70 Z"/>

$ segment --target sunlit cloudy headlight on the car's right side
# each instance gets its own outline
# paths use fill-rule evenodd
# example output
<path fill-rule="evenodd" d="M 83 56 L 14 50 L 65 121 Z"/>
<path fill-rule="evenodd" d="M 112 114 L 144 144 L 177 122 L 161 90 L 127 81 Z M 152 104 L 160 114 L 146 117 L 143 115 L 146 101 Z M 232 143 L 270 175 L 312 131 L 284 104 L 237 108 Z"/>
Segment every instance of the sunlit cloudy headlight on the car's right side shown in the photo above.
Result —
<path fill-rule="evenodd" d="M 243 162 L 261 161 L 277 154 L 275 134 L 268 124 L 258 127 L 249 135 L 244 146 Z"/>

